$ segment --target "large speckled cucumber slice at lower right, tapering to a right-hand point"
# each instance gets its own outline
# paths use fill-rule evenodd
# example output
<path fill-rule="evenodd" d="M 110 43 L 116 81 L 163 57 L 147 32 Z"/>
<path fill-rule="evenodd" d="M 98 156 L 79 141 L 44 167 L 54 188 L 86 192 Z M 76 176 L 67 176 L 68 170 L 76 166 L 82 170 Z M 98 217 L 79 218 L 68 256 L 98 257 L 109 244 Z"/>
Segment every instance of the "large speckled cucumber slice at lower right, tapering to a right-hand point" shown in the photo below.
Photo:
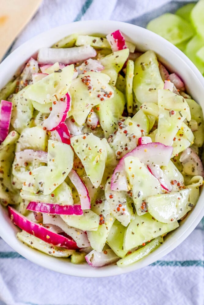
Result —
<path fill-rule="evenodd" d="M 150 215 L 150 213 L 146 213 L 142 216 L 138 216 L 136 214 L 135 218 L 130 222 L 127 230 L 125 231 L 124 249 L 128 251 L 141 246 L 143 243 L 175 230 L 178 227 L 178 221 L 170 224 L 164 224 L 157 221 Z"/>

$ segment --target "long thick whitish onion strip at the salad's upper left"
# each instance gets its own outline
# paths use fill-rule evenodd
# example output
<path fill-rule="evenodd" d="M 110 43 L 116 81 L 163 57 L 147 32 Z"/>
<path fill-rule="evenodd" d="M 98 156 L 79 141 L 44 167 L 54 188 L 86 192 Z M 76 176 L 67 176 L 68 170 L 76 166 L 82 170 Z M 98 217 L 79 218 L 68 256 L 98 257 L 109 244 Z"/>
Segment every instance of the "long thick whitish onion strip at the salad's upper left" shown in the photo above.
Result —
<path fill-rule="evenodd" d="M 38 52 L 38 62 L 54 64 L 56 62 L 69 65 L 86 60 L 97 55 L 96 50 L 90 45 L 73 48 L 41 48 Z M 41 70 L 42 71 L 42 70 Z M 43 72 L 43 71 L 42 71 Z"/>

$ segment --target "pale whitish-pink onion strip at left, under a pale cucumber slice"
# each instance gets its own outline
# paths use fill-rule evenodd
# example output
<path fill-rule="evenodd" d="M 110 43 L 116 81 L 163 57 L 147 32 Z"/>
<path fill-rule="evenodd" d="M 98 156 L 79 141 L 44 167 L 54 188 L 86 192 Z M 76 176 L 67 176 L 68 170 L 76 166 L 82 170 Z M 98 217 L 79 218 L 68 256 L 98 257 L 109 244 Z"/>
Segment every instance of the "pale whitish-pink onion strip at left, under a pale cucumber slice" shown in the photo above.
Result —
<path fill-rule="evenodd" d="M 24 149 L 20 152 L 16 152 L 17 163 L 22 166 L 25 162 L 33 162 L 38 160 L 43 163 L 47 163 L 47 152 L 42 150 Z"/>

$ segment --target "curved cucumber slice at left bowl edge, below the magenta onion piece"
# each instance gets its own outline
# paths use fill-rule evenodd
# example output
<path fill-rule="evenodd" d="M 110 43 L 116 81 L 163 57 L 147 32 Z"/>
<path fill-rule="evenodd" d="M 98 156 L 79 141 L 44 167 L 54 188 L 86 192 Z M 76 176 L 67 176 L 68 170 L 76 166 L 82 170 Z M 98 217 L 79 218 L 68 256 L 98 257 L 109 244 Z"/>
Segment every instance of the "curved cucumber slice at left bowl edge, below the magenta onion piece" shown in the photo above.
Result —
<path fill-rule="evenodd" d="M 11 131 L 0 145 L 0 202 L 3 205 L 20 203 L 18 191 L 12 185 L 12 163 L 19 134 Z"/>

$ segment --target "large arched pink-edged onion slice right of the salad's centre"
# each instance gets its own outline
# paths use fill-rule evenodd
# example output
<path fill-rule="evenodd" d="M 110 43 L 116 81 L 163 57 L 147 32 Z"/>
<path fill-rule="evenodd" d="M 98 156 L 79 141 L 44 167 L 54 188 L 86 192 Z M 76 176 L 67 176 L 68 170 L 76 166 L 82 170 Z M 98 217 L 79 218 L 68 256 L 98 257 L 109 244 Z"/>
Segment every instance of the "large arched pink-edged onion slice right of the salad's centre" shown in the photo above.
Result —
<path fill-rule="evenodd" d="M 172 156 L 173 148 L 161 143 L 148 143 L 137 146 L 121 158 L 115 168 L 111 178 L 112 191 L 128 191 L 128 181 L 125 172 L 124 158 L 133 156 L 139 158 L 146 165 L 158 164 L 159 166 L 168 165 Z"/>

